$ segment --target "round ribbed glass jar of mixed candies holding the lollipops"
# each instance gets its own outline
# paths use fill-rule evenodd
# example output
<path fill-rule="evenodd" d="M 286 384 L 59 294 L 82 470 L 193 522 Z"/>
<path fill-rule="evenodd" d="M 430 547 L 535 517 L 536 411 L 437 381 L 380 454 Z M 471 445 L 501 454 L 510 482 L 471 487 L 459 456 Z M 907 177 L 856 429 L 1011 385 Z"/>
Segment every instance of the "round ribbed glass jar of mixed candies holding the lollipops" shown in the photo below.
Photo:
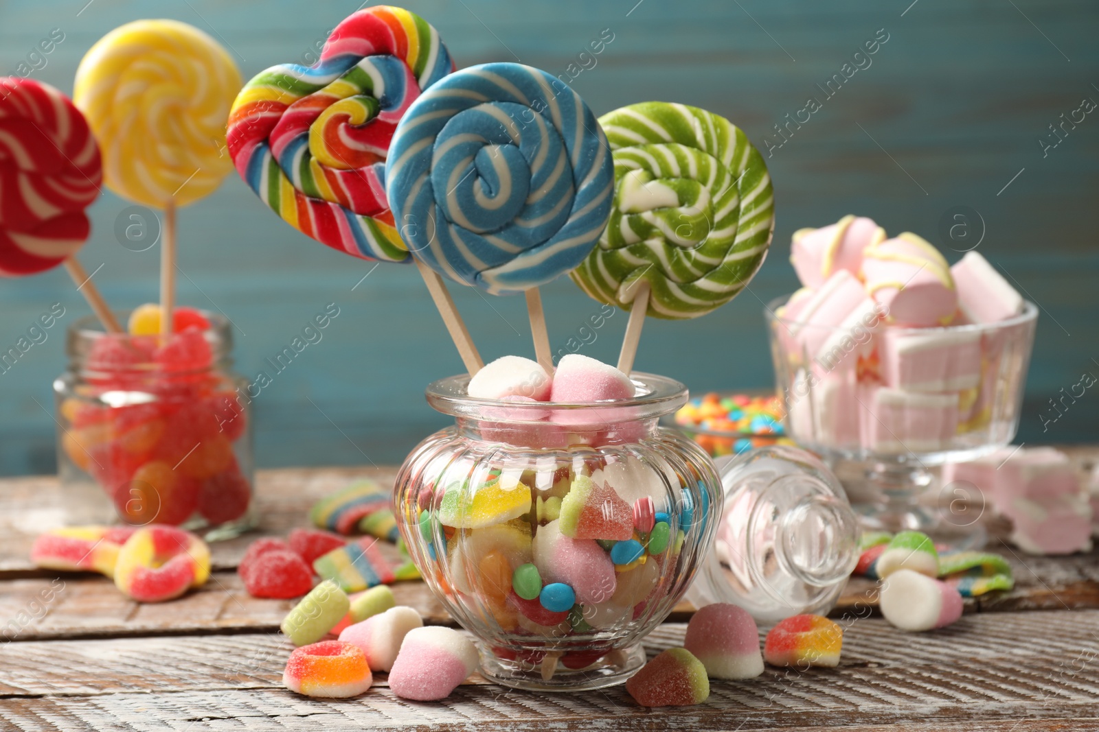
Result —
<path fill-rule="evenodd" d="M 722 500 L 713 463 L 657 426 L 687 390 L 633 380 L 633 398 L 588 405 L 471 398 L 467 375 L 428 387 L 455 425 L 401 466 L 398 526 L 496 683 L 624 682 L 710 550 Z"/>

